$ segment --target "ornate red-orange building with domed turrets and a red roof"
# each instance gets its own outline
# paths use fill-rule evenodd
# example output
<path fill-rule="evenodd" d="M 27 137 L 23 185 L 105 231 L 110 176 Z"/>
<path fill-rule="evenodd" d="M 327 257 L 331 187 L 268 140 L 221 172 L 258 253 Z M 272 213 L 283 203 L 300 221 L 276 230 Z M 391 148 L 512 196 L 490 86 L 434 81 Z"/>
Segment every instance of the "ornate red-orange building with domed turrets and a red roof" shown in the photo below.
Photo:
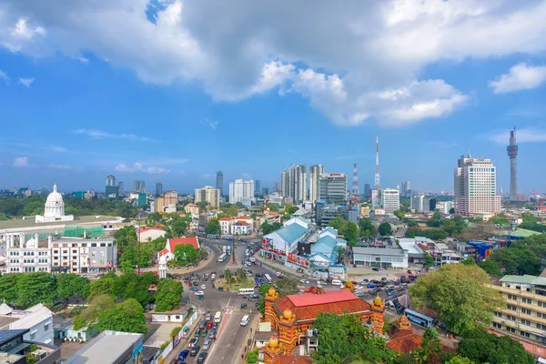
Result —
<path fill-rule="evenodd" d="M 304 294 L 278 298 L 275 288 L 269 288 L 265 306 L 265 319 L 271 322 L 271 329 L 278 332 L 278 337 L 271 338 L 261 349 L 266 364 L 279 355 L 290 354 L 321 313 L 356 314 L 363 324 L 371 323 L 374 331 L 383 332 L 385 305 L 382 299 L 378 296 L 370 305 L 349 289 L 325 291 L 311 287 Z"/>

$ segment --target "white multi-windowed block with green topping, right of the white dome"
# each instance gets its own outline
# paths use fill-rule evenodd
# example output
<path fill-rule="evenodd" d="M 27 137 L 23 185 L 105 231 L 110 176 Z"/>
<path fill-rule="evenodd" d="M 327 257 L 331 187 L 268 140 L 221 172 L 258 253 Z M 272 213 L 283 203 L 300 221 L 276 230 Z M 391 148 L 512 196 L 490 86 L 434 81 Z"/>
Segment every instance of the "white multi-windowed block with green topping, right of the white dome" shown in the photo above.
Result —
<path fill-rule="evenodd" d="M 54 238 L 51 251 L 51 269 L 57 273 L 103 273 L 117 267 L 113 238 Z"/>

